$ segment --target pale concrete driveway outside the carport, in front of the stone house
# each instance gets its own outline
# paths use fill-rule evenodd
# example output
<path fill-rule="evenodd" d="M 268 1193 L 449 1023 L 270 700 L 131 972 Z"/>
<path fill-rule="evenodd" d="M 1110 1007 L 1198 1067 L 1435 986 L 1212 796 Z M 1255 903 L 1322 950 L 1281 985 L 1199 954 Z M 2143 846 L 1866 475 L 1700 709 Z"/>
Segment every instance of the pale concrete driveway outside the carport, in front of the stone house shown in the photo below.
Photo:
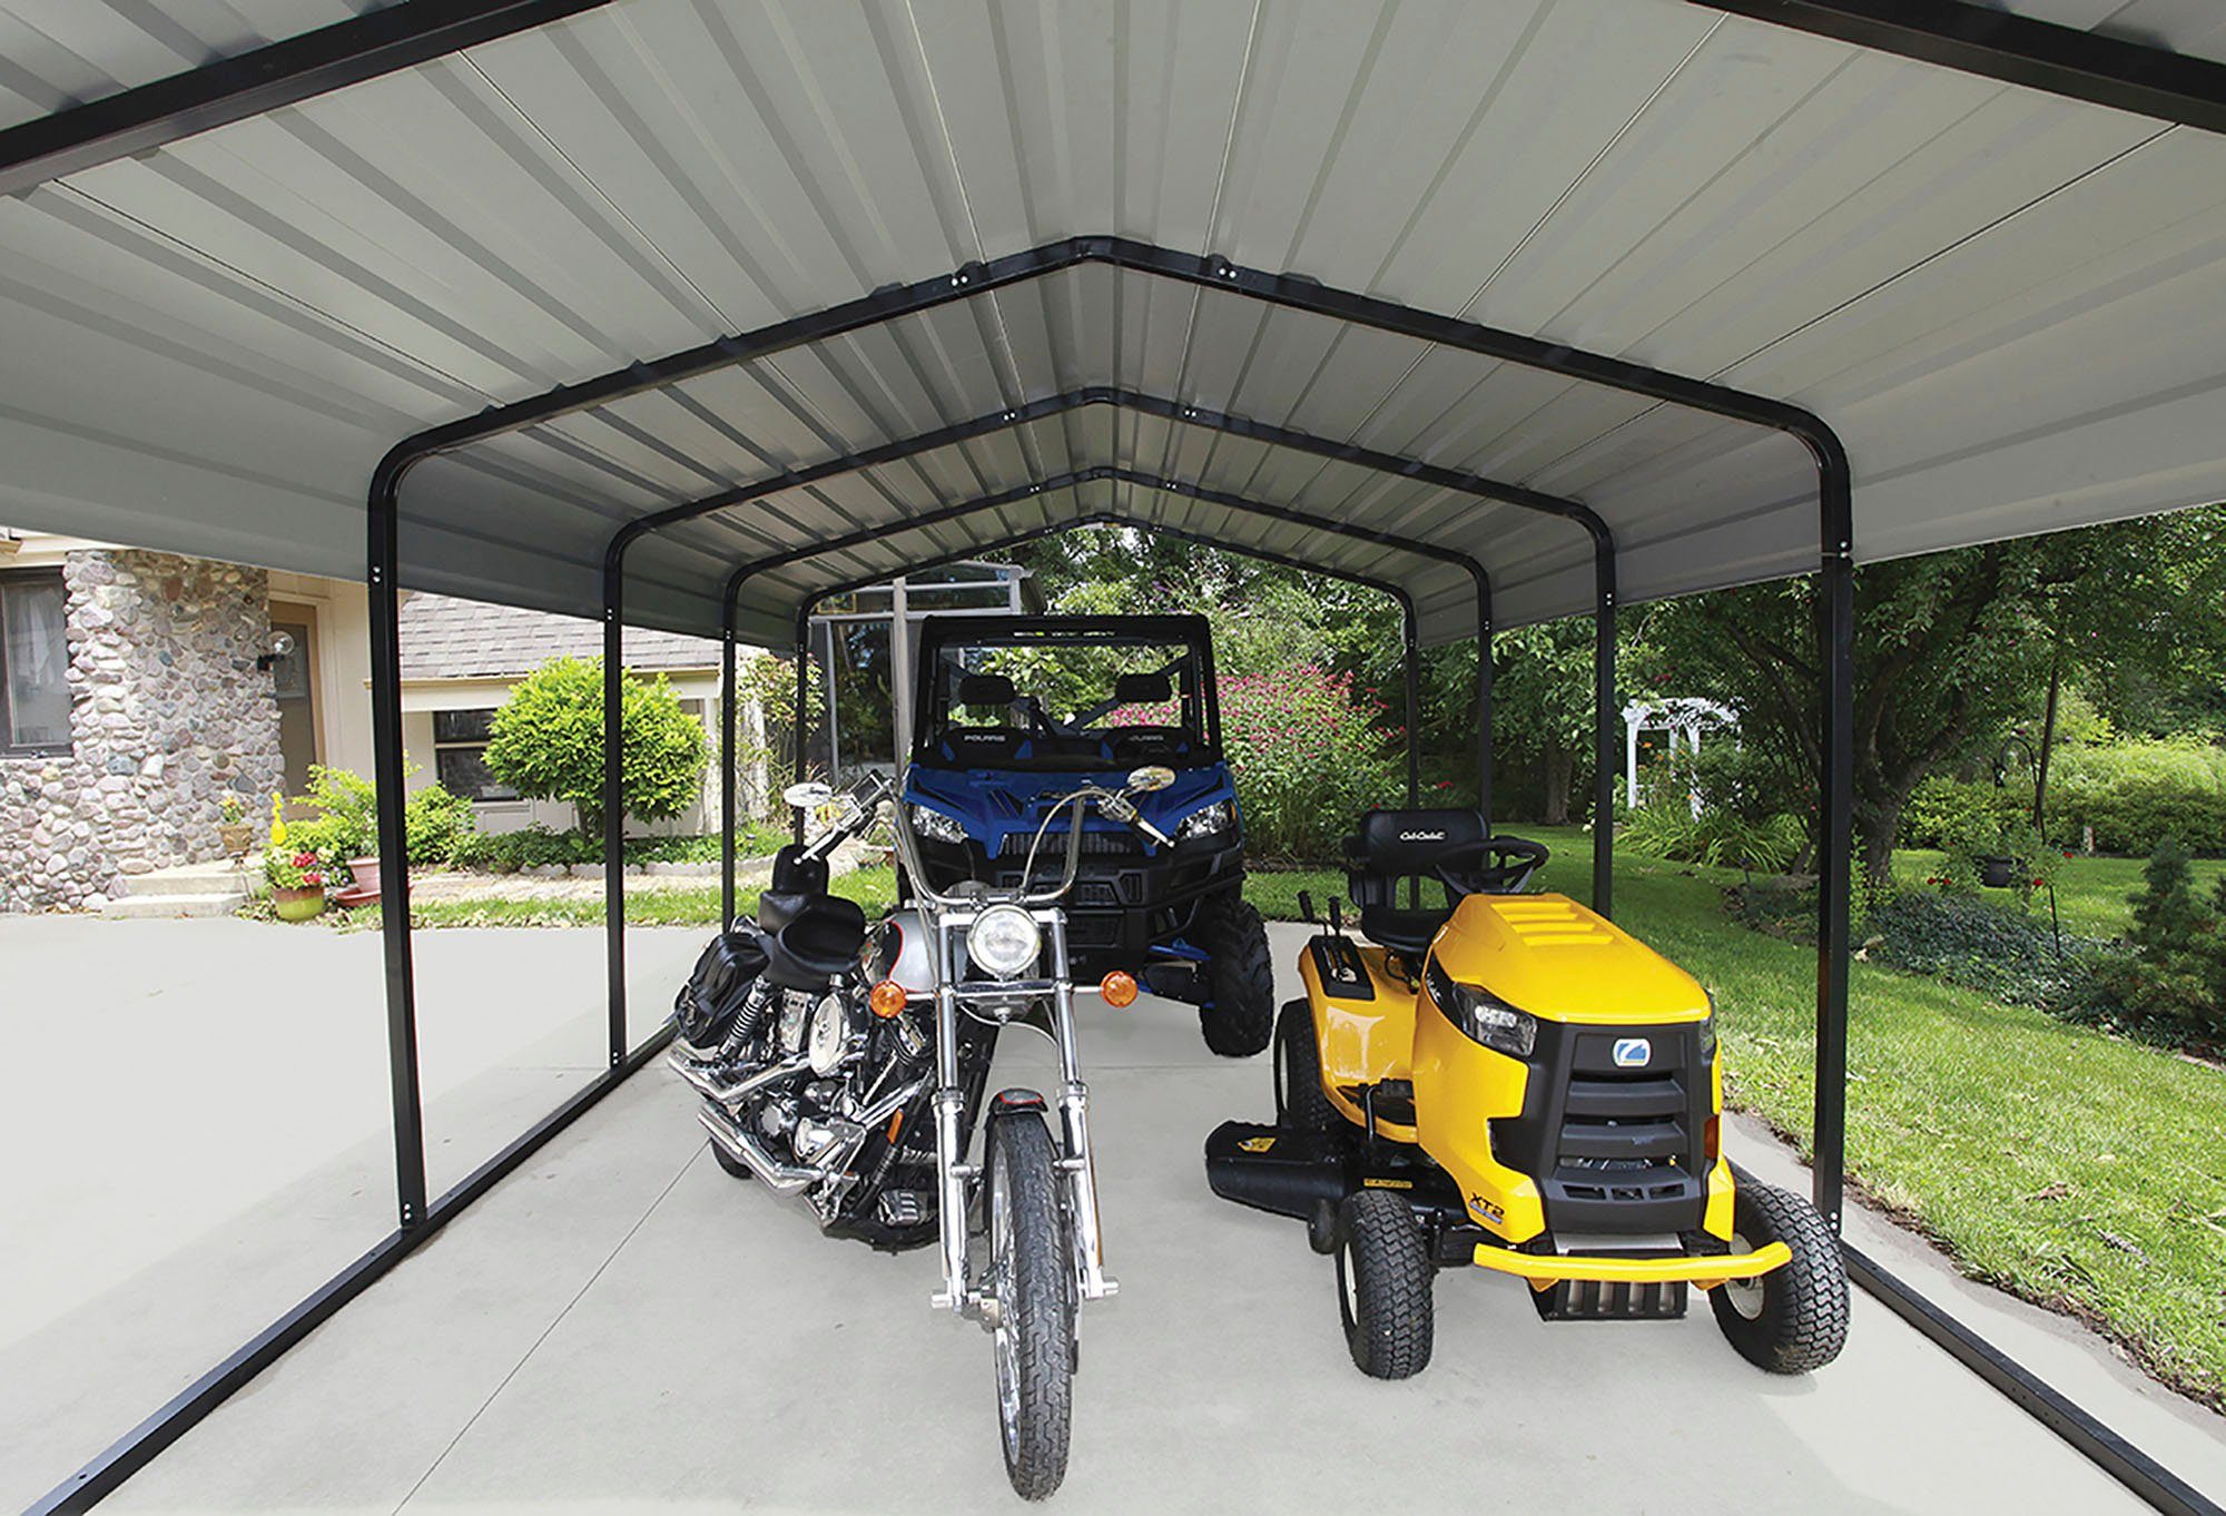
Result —
<path fill-rule="evenodd" d="M 630 933 L 634 1037 L 699 931 Z M 394 1227 L 378 937 L 0 917 L 0 1509 Z M 427 1180 L 603 1069 L 599 931 L 416 937 Z"/>

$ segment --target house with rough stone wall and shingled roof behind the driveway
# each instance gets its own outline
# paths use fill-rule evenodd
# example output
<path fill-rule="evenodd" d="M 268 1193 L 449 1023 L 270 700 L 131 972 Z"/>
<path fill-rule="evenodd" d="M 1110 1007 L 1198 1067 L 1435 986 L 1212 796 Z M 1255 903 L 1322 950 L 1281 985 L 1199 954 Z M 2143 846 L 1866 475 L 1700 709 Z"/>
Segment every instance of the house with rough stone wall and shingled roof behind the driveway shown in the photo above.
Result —
<path fill-rule="evenodd" d="M 512 683 L 599 652 L 592 621 L 410 597 L 412 788 L 472 795 L 487 830 L 572 826 L 568 806 L 508 795 L 479 755 Z M 626 657 L 717 730 L 717 643 L 630 628 Z M 367 775 L 367 690 L 361 583 L 0 528 L 0 910 L 105 906 L 134 875 L 223 857 L 227 797 L 263 821 L 312 764 Z M 710 806 L 715 786 L 708 768 Z M 657 830 L 708 815 L 699 799 Z"/>

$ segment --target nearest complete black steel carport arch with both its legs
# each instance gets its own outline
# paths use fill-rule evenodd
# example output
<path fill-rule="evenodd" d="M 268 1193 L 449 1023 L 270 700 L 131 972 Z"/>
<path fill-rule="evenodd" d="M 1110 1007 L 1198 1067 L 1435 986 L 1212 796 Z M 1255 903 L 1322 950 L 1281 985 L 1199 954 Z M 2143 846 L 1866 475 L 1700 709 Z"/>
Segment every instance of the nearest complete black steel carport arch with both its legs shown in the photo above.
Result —
<path fill-rule="evenodd" d="M 398 488 L 403 476 L 418 461 L 452 452 L 474 441 L 516 432 L 543 421 L 554 421 L 579 410 L 603 405 L 630 394 L 659 390 L 697 374 L 708 374 L 755 358 L 766 358 L 790 347 L 826 341 L 846 332 L 881 325 L 904 316 L 915 316 L 953 301 L 966 301 L 1011 285 L 1020 285 L 1060 269 L 1084 265 L 1109 265 L 1140 274 L 1158 274 L 1178 283 L 1204 289 L 1224 289 L 1264 305 L 1329 316 L 1349 325 L 1393 332 L 1422 343 L 1436 343 L 1458 352 L 1471 352 L 1520 367 L 1563 374 L 1589 383 L 1621 390 L 1625 394 L 1649 396 L 1670 405 L 1683 405 L 1705 414 L 1743 421 L 1794 436 L 1808 447 L 1816 463 L 1821 505 L 1821 554 L 1819 554 L 1819 641 L 1823 643 L 1821 666 L 1825 670 L 1825 739 L 1821 755 L 1823 830 L 1819 848 L 1819 946 L 1816 946 L 1816 1204 L 1825 1218 L 1839 1227 L 1841 1187 L 1845 1166 L 1845 1097 L 1848 1097 L 1848 817 L 1854 808 L 1854 512 L 1852 476 L 1848 454 L 1839 436 L 1825 421 L 1799 405 L 1745 394 L 1727 385 L 1716 385 L 1667 370 L 1656 370 L 1607 354 L 1585 352 L 1563 343 L 1552 343 L 1503 327 L 1487 327 L 1458 316 L 1422 312 L 1396 301 L 1333 289 L 1296 274 L 1267 274 L 1235 265 L 1222 256 L 1200 256 L 1153 247 L 1133 238 L 1080 236 L 1062 243 L 1046 243 L 1017 254 L 968 263 L 951 274 L 888 285 L 855 301 L 830 305 L 808 316 L 795 316 L 750 334 L 721 336 L 695 347 L 668 354 L 648 363 L 632 363 L 597 378 L 559 385 L 545 394 L 496 405 L 479 416 L 452 421 L 441 427 L 403 439 L 381 459 L 372 474 L 367 539 L 372 588 L 372 737 L 374 768 L 381 786 L 378 846 L 394 868 L 383 877 L 385 906 L 385 962 L 387 962 L 387 1024 L 390 1051 L 394 1053 L 394 1100 L 396 1100 L 396 1182 L 403 1195 L 405 1224 L 414 1222 L 412 1193 L 423 1209 L 423 1138 L 416 1115 L 416 995 L 410 975 L 410 917 L 407 917 L 407 873 L 403 837 L 403 739 L 401 739 L 401 628 L 394 572 L 398 563 Z M 1607 663 L 1612 652 L 1603 652 L 1598 663 Z M 1612 735 L 1600 739 L 1612 744 Z M 1603 755 L 1612 757 L 1612 755 Z M 1603 764 L 1607 766 L 1607 764 Z M 605 862 L 612 868 L 621 859 Z M 387 877 L 392 875 L 392 877 Z M 617 931 L 617 926 L 614 926 Z M 612 968 L 610 1033 L 612 1060 L 621 1057 L 626 1040 L 623 984 L 619 968 Z M 403 1066 L 407 1064 L 407 1066 Z M 403 1100 L 412 1111 L 401 1111 Z M 407 1124 L 407 1133 L 405 1133 Z M 405 1138 L 414 1138 L 412 1153 L 405 1153 Z"/>

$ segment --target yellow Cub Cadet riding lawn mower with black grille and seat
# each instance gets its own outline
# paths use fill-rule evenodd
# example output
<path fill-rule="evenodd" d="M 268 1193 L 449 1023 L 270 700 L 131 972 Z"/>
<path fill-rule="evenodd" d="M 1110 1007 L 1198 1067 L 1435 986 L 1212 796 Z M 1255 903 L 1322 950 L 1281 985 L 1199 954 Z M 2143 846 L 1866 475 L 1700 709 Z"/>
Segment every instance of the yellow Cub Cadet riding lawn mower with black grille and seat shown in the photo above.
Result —
<path fill-rule="evenodd" d="M 1345 855 L 1365 942 L 1331 899 L 1298 962 L 1307 997 L 1275 1024 L 1275 1124 L 1224 1122 L 1206 1175 L 1336 1256 L 1360 1371 L 1429 1365 L 1431 1278 L 1454 1264 L 1523 1280 L 1545 1320 L 1678 1318 L 1701 1287 L 1750 1362 L 1832 1362 L 1839 1242 L 1723 1158 L 1707 991 L 1574 899 L 1525 893 L 1545 846 L 1471 810 L 1371 810 Z"/>

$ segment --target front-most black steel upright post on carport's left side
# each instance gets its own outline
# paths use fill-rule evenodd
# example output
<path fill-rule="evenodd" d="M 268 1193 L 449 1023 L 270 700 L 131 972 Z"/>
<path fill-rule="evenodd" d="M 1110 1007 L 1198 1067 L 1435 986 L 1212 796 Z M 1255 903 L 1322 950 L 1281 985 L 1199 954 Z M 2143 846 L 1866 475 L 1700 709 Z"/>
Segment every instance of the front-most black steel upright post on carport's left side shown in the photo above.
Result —
<path fill-rule="evenodd" d="M 372 784 L 378 790 L 378 935 L 387 973 L 387 1082 L 394 1097 L 394 1202 L 407 1231 L 425 1220 L 425 1113 L 416 1066 L 416 975 L 410 962 L 410 833 L 403 757 L 401 505 L 410 461 L 387 454 L 372 476 L 365 594 L 372 621 Z"/>

